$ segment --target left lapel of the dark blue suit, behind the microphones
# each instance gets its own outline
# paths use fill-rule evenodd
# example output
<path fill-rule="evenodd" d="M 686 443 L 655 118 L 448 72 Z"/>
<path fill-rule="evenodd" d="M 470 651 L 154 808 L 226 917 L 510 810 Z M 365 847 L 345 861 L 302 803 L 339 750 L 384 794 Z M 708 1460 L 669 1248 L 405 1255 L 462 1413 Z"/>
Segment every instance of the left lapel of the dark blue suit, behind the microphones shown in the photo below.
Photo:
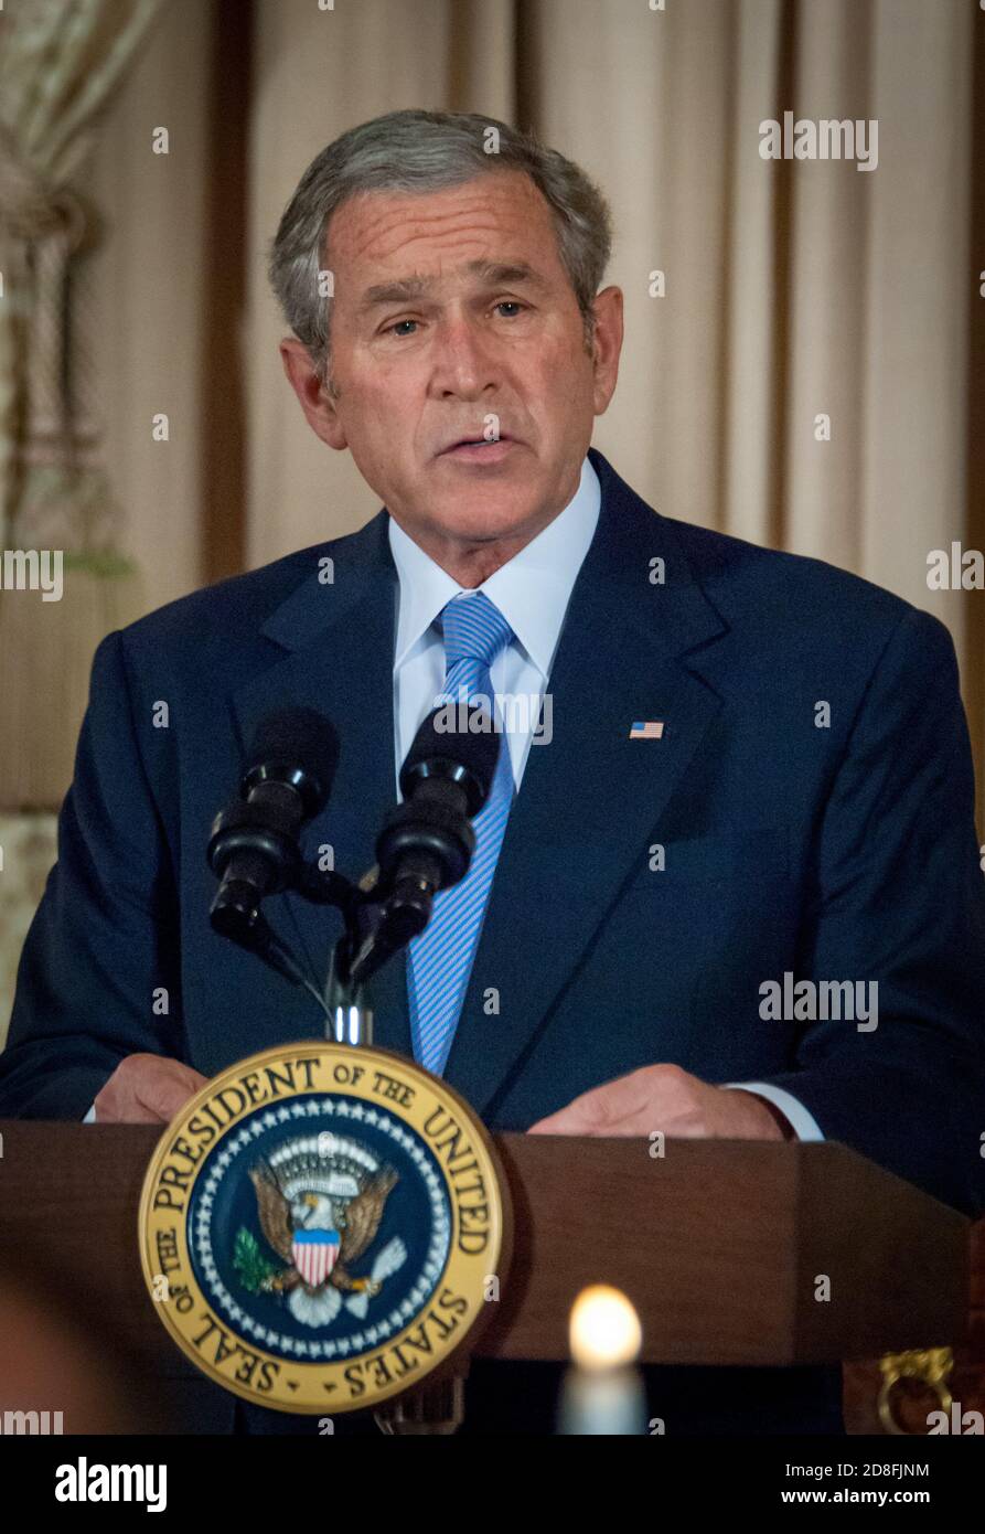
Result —
<path fill-rule="evenodd" d="M 328 548 L 334 580 L 321 584 L 318 557 Z M 311 551 L 311 575 L 264 624 L 285 653 L 233 698 L 239 741 L 249 749 L 262 716 L 302 704 L 325 715 L 339 736 L 339 767 L 325 808 L 305 828 L 307 858 L 330 845 L 334 867 L 357 879 L 371 864 L 387 810 L 396 802 L 393 653 L 397 574 L 380 511 L 357 534 Z M 341 917 L 301 896 L 275 896 L 267 917 L 324 985 Z M 370 988 L 376 1042 L 411 1052 L 405 960 L 394 959 Z"/>

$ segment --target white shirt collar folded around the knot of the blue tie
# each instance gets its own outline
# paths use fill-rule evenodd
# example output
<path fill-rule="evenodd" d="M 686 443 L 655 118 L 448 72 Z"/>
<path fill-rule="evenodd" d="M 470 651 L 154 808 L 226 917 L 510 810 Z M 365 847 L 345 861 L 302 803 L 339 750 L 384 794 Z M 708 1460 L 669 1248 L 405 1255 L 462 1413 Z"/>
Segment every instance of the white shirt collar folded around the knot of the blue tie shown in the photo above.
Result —
<path fill-rule="evenodd" d="M 601 489 L 588 457 L 572 499 L 519 554 L 502 565 L 479 591 L 494 601 L 532 663 L 546 680 L 568 601 L 595 528 Z M 394 672 L 422 643 L 428 629 L 463 586 L 388 518 L 390 549 L 400 578 L 400 612 Z"/>

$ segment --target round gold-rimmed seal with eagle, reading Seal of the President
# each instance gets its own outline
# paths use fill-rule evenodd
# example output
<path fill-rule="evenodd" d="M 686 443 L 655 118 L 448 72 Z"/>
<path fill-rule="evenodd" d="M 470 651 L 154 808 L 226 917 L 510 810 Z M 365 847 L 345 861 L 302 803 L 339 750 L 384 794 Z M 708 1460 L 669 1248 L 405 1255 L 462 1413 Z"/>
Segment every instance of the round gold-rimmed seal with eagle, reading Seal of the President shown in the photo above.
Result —
<path fill-rule="evenodd" d="M 385 1049 L 301 1043 L 215 1077 L 140 1201 L 156 1312 L 213 1381 L 331 1416 L 422 1384 L 489 1313 L 508 1203 L 482 1123 Z"/>

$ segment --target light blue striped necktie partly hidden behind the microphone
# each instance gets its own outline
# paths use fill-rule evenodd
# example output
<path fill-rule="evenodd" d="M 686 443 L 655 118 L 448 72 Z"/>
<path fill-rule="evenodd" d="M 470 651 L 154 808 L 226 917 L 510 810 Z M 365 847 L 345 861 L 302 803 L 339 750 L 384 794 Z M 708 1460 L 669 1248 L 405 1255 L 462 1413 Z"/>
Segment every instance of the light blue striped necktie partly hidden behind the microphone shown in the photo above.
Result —
<path fill-rule="evenodd" d="M 512 629 L 482 591 L 453 597 L 442 609 L 442 627 L 445 690 L 434 700 L 436 707 L 480 695 L 488 700 L 486 706 L 492 712 L 496 703 L 489 667 L 509 644 Z M 408 948 L 414 1057 L 436 1075 L 445 1069 L 465 1000 L 511 804 L 512 767 L 503 730 L 489 798 L 473 821 L 476 851 L 469 870 L 459 884 L 434 897 L 431 920 Z"/>

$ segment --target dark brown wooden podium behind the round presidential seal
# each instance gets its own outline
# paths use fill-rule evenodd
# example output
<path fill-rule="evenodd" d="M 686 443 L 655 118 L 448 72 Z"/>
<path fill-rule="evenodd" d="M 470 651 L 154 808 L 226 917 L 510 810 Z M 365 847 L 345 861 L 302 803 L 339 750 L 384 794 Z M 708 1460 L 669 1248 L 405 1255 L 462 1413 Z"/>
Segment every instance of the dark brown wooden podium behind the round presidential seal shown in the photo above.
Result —
<path fill-rule="evenodd" d="M 0 1279 L 57 1296 L 66 1315 L 100 1316 L 149 1401 L 155 1379 L 178 1393 L 199 1379 L 140 1269 L 137 1209 L 160 1135 L 0 1121 Z M 494 1141 L 512 1195 L 512 1264 L 477 1358 L 566 1359 L 571 1304 L 592 1282 L 632 1299 L 644 1362 L 871 1371 L 865 1361 L 881 1355 L 974 1342 L 980 1223 L 842 1144 L 667 1140 L 652 1155 L 643 1138 Z M 853 1419 L 879 1431 L 858 1388 L 848 1431 Z"/>

